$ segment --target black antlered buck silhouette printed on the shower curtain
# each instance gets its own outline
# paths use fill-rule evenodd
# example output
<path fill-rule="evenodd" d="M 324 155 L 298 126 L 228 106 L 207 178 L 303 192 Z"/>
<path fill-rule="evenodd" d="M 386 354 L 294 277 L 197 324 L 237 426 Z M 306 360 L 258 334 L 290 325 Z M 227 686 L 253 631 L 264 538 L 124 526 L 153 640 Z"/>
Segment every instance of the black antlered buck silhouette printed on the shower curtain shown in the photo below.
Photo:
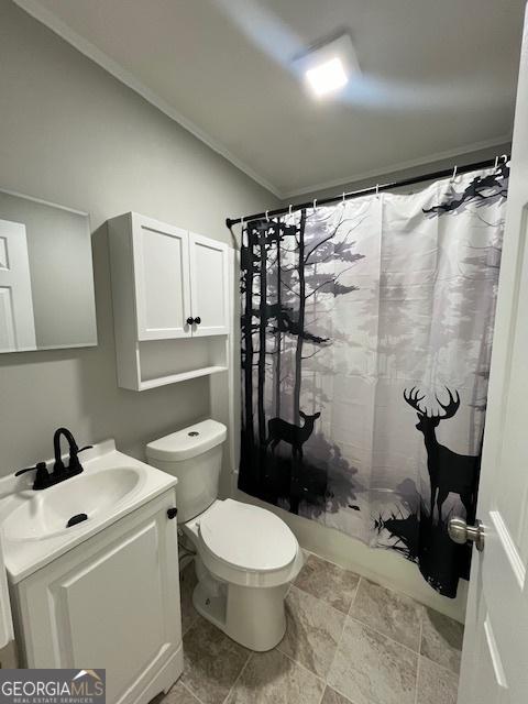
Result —
<path fill-rule="evenodd" d="M 426 443 L 427 469 L 431 484 L 431 521 L 435 510 L 435 499 L 438 520 L 441 521 L 442 504 L 450 493 L 460 496 L 468 517 L 472 516 L 476 498 L 480 458 L 469 454 L 458 454 L 443 444 L 440 444 L 437 440 L 435 429 L 440 420 L 452 418 L 460 406 L 459 393 L 455 392 L 457 396 L 453 396 L 449 388 L 446 388 L 449 394 L 448 404 L 442 404 L 438 396 L 436 397 L 439 406 L 444 410 L 442 416 L 433 413 L 428 414 L 427 410 L 420 408 L 420 402 L 424 400 L 425 396 L 419 396 L 419 391 L 417 391 L 416 387 L 413 387 L 409 393 L 407 393 L 407 389 L 404 391 L 405 400 L 417 411 L 418 424 L 416 427 L 424 433 Z"/>

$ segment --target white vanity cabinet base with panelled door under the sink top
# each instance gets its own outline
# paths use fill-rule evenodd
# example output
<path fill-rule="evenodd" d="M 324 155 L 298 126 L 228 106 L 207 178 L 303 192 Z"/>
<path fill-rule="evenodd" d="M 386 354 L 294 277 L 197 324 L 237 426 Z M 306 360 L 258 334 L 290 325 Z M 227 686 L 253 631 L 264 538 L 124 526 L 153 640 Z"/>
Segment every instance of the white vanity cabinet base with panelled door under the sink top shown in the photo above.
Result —
<path fill-rule="evenodd" d="M 147 704 L 183 671 L 174 490 L 13 585 L 28 668 L 107 670 L 109 704 Z"/>

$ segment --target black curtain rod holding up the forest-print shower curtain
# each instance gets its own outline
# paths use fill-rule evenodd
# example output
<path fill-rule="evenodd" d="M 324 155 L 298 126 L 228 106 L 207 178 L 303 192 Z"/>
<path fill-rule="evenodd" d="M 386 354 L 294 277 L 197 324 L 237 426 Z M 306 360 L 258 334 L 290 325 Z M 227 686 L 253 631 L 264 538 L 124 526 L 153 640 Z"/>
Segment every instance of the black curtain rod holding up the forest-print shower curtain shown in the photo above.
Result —
<path fill-rule="evenodd" d="M 451 176 L 453 174 L 468 174 L 469 172 L 474 172 L 480 168 L 491 168 L 493 166 L 496 168 L 499 158 L 507 162 L 509 160 L 509 154 L 503 154 L 501 157 L 488 158 L 484 162 L 466 164 L 465 166 L 455 166 L 454 169 L 443 168 L 442 170 L 433 172 L 432 174 L 422 174 L 421 176 L 414 176 L 413 178 L 404 178 L 403 180 L 394 180 L 388 184 L 378 184 L 369 188 L 361 188 L 360 190 L 351 190 L 350 193 L 344 193 L 339 196 L 330 196 L 328 198 L 321 198 L 320 200 L 316 198 L 316 200 L 299 202 L 296 206 L 287 206 L 286 208 L 276 208 L 275 210 L 255 212 L 252 216 L 244 216 L 243 218 L 227 218 L 226 224 L 229 229 L 231 229 L 233 224 L 239 224 L 239 222 L 250 222 L 251 220 L 262 220 L 263 218 L 275 218 L 276 216 L 295 212 L 296 210 L 304 210 L 305 208 L 314 208 L 315 206 L 327 206 L 331 202 L 338 202 L 339 200 L 351 200 L 352 198 L 359 198 L 360 196 L 370 196 L 371 194 L 378 194 L 384 190 L 391 190 L 392 188 L 413 186 L 414 184 L 419 184 L 424 180 L 446 178 L 447 176 Z"/>

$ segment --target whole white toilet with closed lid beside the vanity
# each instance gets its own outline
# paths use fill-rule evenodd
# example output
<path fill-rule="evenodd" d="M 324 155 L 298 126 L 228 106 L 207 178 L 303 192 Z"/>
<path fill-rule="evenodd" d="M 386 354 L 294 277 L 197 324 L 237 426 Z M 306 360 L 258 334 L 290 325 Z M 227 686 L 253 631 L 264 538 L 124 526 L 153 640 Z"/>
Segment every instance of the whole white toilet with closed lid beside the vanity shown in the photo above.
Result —
<path fill-rule="evenodd" d="M 178 477 L 178 524 L 196 550 L 196 609 L 237 642 L 270 650 L 286 630 L 284 597 L 302 566 L 296 537 L 270 510 L 218 498 L 227 429 L 204 420 L 146 446 Z"/>

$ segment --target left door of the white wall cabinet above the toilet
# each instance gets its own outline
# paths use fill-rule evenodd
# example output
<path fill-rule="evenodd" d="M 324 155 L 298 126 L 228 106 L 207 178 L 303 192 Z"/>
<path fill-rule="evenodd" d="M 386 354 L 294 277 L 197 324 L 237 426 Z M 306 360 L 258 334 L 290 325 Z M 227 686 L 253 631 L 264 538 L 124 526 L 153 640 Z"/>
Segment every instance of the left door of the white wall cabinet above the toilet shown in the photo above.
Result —
<path fill-rule="evenodd" d="M 189 338 L 188 232 L 132 215 L 139 340 Z"/>

